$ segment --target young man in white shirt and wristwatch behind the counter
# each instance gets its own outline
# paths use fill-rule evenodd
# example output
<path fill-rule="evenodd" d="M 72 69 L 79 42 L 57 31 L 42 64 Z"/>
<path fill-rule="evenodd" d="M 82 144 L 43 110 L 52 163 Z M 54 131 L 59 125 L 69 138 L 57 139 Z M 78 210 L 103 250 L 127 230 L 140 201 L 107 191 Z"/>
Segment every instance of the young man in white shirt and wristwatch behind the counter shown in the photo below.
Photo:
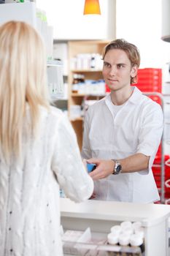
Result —
<path fill-rule="evenodd" d="M 159 200 L 152 163 L 163 132 L 161 106 L 136 83 L 139 50 L 123 39 L 103 53 L 104 80 L 111 93 L 85 116 L 82 157 L 97 165 L 90 173 L 98 200 L 151 203 Z"/>

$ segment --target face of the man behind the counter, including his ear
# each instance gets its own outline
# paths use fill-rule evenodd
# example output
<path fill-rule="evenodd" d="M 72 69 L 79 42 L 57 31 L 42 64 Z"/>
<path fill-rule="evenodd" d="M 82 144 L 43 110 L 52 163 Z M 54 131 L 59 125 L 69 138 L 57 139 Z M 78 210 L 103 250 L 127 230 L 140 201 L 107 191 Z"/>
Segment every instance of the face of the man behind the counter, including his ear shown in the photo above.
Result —
<path fill-rule="evenodd" d="M 103 76 L 111 91 L 130 86 L 131 77 L 137 74 L 137 67 L 131 67 L 131 61 L 124 50 L 112 49 L 104 56 Z"/>

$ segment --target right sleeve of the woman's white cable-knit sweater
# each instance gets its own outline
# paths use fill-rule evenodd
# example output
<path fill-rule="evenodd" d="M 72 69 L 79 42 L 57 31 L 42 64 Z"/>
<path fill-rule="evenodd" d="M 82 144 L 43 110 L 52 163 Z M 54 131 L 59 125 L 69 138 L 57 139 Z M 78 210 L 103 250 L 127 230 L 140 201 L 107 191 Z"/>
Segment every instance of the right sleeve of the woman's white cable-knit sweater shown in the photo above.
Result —
<path fill-rule="evenodd" d="M 52 169 L 66 197 L 80 202 L 93 193 L 93 180 L 85 170 L 74 129 L 66 116 L 58 121 Z"/>

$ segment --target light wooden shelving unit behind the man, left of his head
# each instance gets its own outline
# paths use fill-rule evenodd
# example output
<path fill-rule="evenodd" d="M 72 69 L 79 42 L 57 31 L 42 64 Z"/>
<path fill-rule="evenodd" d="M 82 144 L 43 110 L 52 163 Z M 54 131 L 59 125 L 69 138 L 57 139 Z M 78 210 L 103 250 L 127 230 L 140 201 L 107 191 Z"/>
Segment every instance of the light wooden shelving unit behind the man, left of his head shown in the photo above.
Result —
<path fill-rule="evenodd" d="M 83 41 L 69 41 L 68 48 L 69 48 L 69 99 L 68 99 L 68 110 L 69 110 L 69 118 L 72 122 L 72 126 L 77 134 L 77 140 L 82 148 L 82 129 L 83 129 L 83 114 L 78 116 L 77 118 L 72 118 L 71 111 L 72 106 L 82 105 L 83 99 L 85 97 L 88 99 L 99 99 L 104 97 L 104 94 L 97 95 L 97 94 L 80 94 L 80 93 L 73 93 L 72 92 L 72 81 L 74 74 L 82 74 L 85 77 L 85 80 L 99 80 L 102 79 L 102 72 L 101 68 L 98 69 L 96 67 L 93 68 L 81 68 L 81 69 L 73 69 L 71 61 L 74 59 L 78 54 L 95 54 L 98 53 L 101 55 L 102 50 L 105 45 L 107 45 L 108 41 L 102 40 L 83 40 Z"/>

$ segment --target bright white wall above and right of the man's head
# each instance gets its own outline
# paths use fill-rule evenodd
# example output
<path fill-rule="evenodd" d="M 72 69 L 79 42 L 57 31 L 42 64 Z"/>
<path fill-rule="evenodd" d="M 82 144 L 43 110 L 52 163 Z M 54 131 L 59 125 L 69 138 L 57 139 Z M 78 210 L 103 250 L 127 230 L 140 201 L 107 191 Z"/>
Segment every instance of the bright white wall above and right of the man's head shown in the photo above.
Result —
<path fill-rule="evenodd" d="M 161 40 L 161 0 L 117 0 L 116 37 L 138 46 L 141 67 L 163 67 L 170 43 Z"/>

